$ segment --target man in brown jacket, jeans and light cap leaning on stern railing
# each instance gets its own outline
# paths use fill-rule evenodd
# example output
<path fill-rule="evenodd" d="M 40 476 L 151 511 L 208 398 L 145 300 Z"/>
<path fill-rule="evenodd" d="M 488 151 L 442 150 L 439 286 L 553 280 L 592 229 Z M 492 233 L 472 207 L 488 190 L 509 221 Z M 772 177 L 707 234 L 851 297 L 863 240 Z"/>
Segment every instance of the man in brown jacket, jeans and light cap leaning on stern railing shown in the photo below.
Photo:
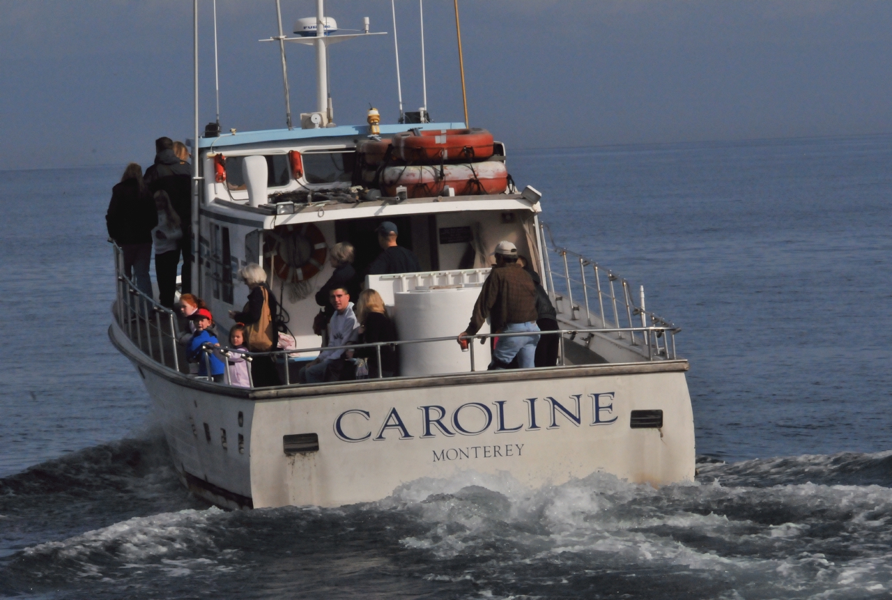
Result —
<path fill-rule="evenodd" d="M 511 242 L 496 245 L 496 266 L 483 283 L 480 296 L 467 329 L 458 334 L 458 343 L 465 335 L 474 335 L 490 318 L 493 333 L 538 332 L 536 319 L 536 286 L 533 279 L 517 264 L 517 248 Z M 472 341 L 473 342 L 473 341 Z M 531 369 L 536 355 L 538 335 L 499 337 L 492 349 L 490 370 L 508 368 L 517 357 L 517 365 Z M 466 341 L 467 343 L 467 341 Z"/>

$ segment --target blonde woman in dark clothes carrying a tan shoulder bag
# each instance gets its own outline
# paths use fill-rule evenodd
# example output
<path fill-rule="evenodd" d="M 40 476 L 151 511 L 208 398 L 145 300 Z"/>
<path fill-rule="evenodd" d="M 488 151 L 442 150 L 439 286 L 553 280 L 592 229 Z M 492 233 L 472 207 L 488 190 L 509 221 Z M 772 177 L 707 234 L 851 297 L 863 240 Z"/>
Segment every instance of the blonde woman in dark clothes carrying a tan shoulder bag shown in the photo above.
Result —
<path fill-rule="evenodd" d="M 268 352 L 277 349 L 278 331 L 276 313 L 278 302 L 267 286 L 267 272 L 256 263 L 251 263 L 238 272 L 251 292 L 248 303 L 242 312 L 229 311 L 229 316 L 245 325 L 245 343 L 252 352 Z M 255 387 L 281 385 L 276 363 L 272 357 L 254 357 L 251 376 Z"/>

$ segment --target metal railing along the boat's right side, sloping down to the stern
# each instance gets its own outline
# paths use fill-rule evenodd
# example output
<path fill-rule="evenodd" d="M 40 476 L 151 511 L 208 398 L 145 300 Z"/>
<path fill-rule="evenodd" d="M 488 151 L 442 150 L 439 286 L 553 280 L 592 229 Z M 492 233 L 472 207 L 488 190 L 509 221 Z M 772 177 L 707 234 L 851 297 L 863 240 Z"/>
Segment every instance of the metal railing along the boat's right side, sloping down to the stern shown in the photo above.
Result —
<path fill-rule="evenodd" d="M 582 254 L 558 246 L 545 223 L 540 224 L 540 234 L 549 297 L 558 315 L 570 321 L 582 321 L 589 327 L 612 329 L 616 340 L 638 347 L 642 354 L 647 347 L 648 356 L 656 353 L 675 357 L 675 334 L 681 332 L 681 327 L 645 308 L 643 285 L 639 287 L 636 304 L 634 288 L 624 277 Z M 552 257 L 558 263 L 556 268 L 551 267 Z M 666 334 L 639 335 L 638 325 L 657 327 Z"/>

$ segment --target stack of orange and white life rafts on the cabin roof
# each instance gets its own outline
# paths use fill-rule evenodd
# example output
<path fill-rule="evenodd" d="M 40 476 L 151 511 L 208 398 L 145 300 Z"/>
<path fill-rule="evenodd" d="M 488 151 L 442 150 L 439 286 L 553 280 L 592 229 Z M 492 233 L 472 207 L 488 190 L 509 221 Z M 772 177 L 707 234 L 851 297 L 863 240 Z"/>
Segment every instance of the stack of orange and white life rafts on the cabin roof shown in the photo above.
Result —
<path fill-rule="evenodd" d="M 385 196 L 404 185 L 409 198 L 504 193 L 508 169 L 493 157 L 492 134 L 486 129 L 410 129 L 392 139 L 357 144 L 362 185 Z"/>

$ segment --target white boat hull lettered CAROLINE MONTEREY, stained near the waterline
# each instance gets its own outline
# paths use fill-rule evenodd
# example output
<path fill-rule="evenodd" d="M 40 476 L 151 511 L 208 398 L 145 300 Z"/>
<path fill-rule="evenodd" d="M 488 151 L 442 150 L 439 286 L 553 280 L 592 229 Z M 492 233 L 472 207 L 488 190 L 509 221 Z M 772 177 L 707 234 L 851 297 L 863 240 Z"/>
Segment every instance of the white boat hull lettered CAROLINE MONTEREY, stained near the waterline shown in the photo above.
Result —
<path fill-rule="evenodd" d="M 694 477 L 687 361 L 222 388 L 173 373 L 111 325 L 137 366 L 186 485 L 216 505 L 336 506 L 461 471 L 531 488 L 594 472 L 662 485 Z M 632 411 L 662 410 L 632 429 Z M 318 450 L 285 452 L 316 434 Z"/>

